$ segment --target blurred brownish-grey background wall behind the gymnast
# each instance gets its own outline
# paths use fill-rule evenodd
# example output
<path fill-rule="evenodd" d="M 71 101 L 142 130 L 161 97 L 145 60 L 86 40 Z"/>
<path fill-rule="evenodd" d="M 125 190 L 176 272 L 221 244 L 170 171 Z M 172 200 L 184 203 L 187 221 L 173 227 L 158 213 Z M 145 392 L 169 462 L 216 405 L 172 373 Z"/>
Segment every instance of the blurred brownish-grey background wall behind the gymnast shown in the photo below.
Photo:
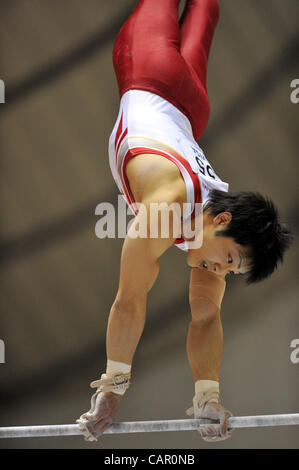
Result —
<path fill-rule="evenodd" d="M 116 202 L 107 143 L 118 113 L 113 40 L 133 0 L 2 0 L 0 425 L 71 423 L 106 363 L 122 240 L 99 240 L 96 205 Z M 183 6 L 183 5 L 182 5 Z M 233 190 L 274 199 L 297 230 L 297 0 L 226 0 L 200 141 Z M 228 281 L 221 391 L 235 415 L 299 411 L 298 243 L 270 279 Z M 173 248 L 149 296 L 119 420 L 184 418 L 189 268 Z M 297 427 L 250 429 L 213 448 L 298 448 Z M 207 448 L 196 432 L 2 440 L 2 448 Z"/>

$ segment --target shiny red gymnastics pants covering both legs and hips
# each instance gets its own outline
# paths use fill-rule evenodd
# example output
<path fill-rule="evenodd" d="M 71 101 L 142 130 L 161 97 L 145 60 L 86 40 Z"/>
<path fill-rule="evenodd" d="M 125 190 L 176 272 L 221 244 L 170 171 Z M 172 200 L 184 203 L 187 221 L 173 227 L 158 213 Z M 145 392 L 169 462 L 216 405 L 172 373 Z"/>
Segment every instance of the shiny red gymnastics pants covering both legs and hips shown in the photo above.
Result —
<path fill-rule="evenodd" d="M 113 64 L 120 97 L 128 90 L 162 96 L 190 120 L 195 140 L 206 128 L 208 55 L 219 18 L 217 0 L 139 0 L 117 35 Z"/>

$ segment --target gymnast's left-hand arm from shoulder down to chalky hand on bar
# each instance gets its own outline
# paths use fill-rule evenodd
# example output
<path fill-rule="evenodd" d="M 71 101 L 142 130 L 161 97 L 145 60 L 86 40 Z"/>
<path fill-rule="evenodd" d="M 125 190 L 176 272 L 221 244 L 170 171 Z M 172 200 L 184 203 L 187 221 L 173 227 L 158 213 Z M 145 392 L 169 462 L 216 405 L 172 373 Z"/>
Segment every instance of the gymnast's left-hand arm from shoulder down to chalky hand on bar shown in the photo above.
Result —
<path fill-rule="evenodd" d="M 172 202 L 171 191 L 159 191 L 145 203 L 145 211 L 140 210 L 125 239 L 120 265 L 119 287 L 115 301 L 111 307 L 107 328 L 107 359 L 109 367 L 117 368 L 111 371 L 107 363 L 106 377 L 115 374 L 128 373 L 141 337 L 146 314 L 147 294 L 153 286 L 159 273 L 159 257 L 173 244 L 176 234 L 162 238 L 161 220 L 158 218 L 158 237 L 151 238 L 149 224 L 145 238 L 132 238 L 134 228 L 144 225 L 149 219 L 149 204 L 153 202 Z M 173 214 L 177 217 L 177 214 Z M 177 219 L 180 220 L 180 219 Z M 172 222 L 172 217 L 170 218 Z M 126 371 L 124 370 L 126 369 Z M 91 398 L 91 409 L 80 416 L 80 425 L 86 440 L 94 440 L 101 435 L 113 421 L 122 394 L 116 390 L 102 391 L 99 389 Z"/>

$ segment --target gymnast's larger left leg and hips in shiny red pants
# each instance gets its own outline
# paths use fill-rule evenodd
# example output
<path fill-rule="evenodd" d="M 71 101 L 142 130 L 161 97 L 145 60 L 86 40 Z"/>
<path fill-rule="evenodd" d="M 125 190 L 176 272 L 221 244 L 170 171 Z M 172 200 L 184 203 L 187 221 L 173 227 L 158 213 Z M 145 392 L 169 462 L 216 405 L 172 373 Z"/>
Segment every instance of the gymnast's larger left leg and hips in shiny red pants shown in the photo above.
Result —
<path fill-rule="evenodd" d="M 113 64 L 120 96 L 132 89 L 162 96 L 188 117 L 197 140 L 206 127 L 209 102 L 195 69 L 180 51 L 178 4 L 139 0 L 117 35 Z"/>

